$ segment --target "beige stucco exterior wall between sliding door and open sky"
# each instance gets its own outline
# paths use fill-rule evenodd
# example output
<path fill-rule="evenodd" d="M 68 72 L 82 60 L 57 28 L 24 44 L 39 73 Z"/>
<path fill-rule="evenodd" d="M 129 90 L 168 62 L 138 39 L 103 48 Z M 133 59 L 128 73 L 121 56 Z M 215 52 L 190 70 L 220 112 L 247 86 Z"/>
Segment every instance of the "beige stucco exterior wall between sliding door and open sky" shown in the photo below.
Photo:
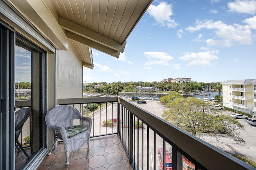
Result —
<path fill-rule="evenodd" d="M 56 100 L 82 98 L 82 90 L 82 61 L 70 42 L 68 51 L 56 51 Z"/>

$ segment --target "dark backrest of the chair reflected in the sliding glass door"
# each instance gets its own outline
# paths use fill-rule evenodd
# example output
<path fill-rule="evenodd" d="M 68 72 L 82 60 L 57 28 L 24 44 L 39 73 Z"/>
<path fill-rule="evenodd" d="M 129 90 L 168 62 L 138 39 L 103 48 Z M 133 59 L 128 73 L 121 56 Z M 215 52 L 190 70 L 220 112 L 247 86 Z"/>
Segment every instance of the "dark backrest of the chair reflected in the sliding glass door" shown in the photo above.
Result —
<path fill-rule="evenodd" d="M 22 108 L 15 112 L 15 131 L 21 130 L 30 116 L 30 108 Z"/>

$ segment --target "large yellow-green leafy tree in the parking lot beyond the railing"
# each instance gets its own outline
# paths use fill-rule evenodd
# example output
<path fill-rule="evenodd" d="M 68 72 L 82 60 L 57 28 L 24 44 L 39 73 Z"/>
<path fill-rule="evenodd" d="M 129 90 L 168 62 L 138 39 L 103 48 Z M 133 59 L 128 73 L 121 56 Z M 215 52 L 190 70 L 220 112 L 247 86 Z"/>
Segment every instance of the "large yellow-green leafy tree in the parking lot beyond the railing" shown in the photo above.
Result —
<path fill-rule="evenodd" d="M 239 137 L 244 125 L 230 116 L 220 114 L 219 110 L 210 109 L 202 100 L 191 97 L 177 98 L 166 106 L 169 109 L 162 114 L 163 119 L 195 136 L 208 133 L 218 138 L 218 133 L 225 133 L 237 143 L 245 142 Z"/>

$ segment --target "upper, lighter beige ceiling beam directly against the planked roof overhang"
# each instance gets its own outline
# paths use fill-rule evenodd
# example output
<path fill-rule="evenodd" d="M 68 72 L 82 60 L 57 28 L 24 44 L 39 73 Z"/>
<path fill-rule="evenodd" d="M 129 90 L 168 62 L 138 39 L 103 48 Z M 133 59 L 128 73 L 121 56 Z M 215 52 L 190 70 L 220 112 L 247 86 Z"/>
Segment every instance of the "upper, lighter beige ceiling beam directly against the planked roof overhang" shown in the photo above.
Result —
<path fill-rule="evenodd" d="M 104 35 L 96 33 L 86 27 L 78 25 L 78 24 L 76 24 L 70 20 L 67 20 L 65 18 L 62 18 L 60 16 L 58 18 L 58 23 L 59 23 L 60 27 L 66 29 L 72 33 L 76 33 L 77 35 L 85 37 L 86 39 L 90 39 L 91 41 L 94 41 L 98 44 L 104 45 L 104 46 L 111 48 L 115 51 L 119 51 L 121 53 L 124 52 L 124 47 L 126 45 L 126 41 L 124 41 L 123 44 L 118 43 L 117 41 L 114 41 L 113 39 L 105 37 Z"/>

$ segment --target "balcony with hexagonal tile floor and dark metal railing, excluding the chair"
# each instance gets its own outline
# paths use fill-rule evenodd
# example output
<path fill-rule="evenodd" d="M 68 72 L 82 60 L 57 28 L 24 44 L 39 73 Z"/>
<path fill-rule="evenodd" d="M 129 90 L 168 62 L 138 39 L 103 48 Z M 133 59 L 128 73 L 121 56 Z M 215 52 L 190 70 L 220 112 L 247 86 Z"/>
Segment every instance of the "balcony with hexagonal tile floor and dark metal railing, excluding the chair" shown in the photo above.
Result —
<path fill-rule="evenodd" d="M 172 156 L 173 170 L 182 170 L 182 158 L 194 164 L 192 169 L 254 169 L 230 154 L 179 129 L 152 113 L 119 97 L 77 98 L 58 100 L 60 105 L 80 108 L 80 112 L 93 120 L 91 149 L 87 144 L 70 154 L 70 165 L 65 165 L 63 144 L 53 154 L 45 156 L 41 169 L 81 166 L 82 169 L 159 169 L 157 150 L 167 149 Z M 96 109 L 96 104 L 99 104 Z M 88 106 L 93 106 L 89 110 Z M 116 123 L 104 124 L 117 117 Z M 203 152 L 200 152 L 203 150 Z M 165 155 L 165 153 L 163 153 Z M 163 158 L 165 165 L 165 158 Z"/>

